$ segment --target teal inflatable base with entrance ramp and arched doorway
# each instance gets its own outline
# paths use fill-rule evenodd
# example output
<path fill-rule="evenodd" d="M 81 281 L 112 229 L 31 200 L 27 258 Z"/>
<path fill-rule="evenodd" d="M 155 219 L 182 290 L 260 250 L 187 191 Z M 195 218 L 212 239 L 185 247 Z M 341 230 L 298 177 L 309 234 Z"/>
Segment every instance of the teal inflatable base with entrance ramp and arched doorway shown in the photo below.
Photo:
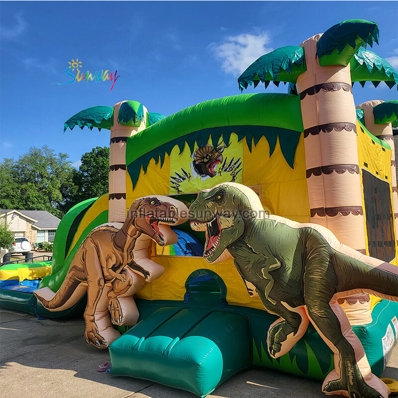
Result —
<path fill-rule="evenodd" d="M 225 284 L 210 270 L 188 278 L 184 301 L 137 299 L 136 303 L 140 321 L 129 330 L 119 327 L 124 334 L 109 346 L 113 376 L 150 380 L 205 397 L 251 365 L 319 380 L 334 368 L 331 350 L 312 325 L 289 353 L 271 358 L 267 331 L 277 317 L 229 305 Z M 353 327 L 376 376 L 397 342 L 397 313 L 398 303 L 382 300 L 372 311 L 372 323 Z M 393 345 L 386 350 L 389 331 Z"/>

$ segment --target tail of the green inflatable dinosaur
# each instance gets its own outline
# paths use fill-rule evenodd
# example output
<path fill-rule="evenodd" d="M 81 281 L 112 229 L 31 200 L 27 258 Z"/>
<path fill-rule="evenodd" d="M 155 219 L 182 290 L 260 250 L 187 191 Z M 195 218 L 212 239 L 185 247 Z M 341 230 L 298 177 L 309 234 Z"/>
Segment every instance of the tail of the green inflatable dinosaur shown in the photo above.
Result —
<path fill-rule="evenodd" d="M 337 259 L 334 268 L 339 281 L 339 292 L 360 290 L 380 298 L 398 301 L 397 266 L 383 262 L 371 265 L 345 255 L 337 256 Z M 375 259 L 371 260 L 374 262 Z"/>

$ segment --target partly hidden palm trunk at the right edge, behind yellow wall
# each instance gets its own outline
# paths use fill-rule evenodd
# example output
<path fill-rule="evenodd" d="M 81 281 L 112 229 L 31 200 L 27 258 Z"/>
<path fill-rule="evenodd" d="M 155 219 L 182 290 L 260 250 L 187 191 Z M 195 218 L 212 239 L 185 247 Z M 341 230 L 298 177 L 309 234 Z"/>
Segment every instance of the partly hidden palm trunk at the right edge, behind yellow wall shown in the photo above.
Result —
<path fill-rule="evenodd" d="M 376 137 L 382 141 L 386 141 L 391 147 L 391 182 L 393 186 L 393 212 L 395 219 L 396 234 L 398 231 L 398 189 L 397 189 L 397 170 L 395 160 L 395 145 L 393 137 L 393 126 L 391 123 L 375 124 L 375 117 L 373 115 L 373 108 L 383 101 L 372 100 L 361 103 L 357 109 L 363 109 L 365 117 L 366 128 Z M 397 235 L 396 235 L 397 236 Z M 397 241 L 396 241 L 397 242 Z M 398 242 L 397 242 L 398 243 Z M 397 248 L 396 248 L 397 250 Z M 396 251 L 397 253 L 397 251 Z"/>

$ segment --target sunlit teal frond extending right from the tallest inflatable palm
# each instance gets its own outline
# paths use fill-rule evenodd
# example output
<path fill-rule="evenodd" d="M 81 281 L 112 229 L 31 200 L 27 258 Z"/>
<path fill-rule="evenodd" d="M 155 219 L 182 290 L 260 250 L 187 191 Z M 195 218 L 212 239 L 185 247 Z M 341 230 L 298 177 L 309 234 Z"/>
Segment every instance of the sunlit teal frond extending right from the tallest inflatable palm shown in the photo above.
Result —
<path fill-rule="evenodd" d="M 372 82 L 377 87 L 380 82 L 385 82 L 390 89 L 397 86 L 398 73 L 384 58 L 373 51 L 360 48 L 350 62 L 351 81 L 359 82 L 362 87 L 365 82 Z"/>

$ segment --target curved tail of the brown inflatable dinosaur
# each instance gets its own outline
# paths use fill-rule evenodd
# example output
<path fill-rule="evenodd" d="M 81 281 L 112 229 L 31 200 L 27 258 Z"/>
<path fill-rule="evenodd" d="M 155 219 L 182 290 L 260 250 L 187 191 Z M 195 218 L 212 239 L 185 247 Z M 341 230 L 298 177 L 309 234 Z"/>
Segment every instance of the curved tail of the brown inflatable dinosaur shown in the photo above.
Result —
<path fill-rule="evenodd" d="M 71 273 L 68 272 L 57 293 L 49 288 L 38 289 L 34 295 L 41 304 L 50 311 L 62 311 L 75 305 L 83 297 L 87 286 L 82 286 Z"/>

